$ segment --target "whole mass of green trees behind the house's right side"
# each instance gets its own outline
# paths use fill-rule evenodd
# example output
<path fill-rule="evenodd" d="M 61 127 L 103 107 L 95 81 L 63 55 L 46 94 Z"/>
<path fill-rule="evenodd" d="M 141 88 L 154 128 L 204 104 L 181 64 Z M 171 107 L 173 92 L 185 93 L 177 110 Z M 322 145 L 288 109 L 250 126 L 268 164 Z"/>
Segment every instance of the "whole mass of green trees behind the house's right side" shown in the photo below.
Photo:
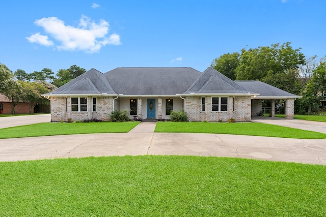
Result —
<path fill-rule="evenodd" d="M 232 80 L 260 80 L 292 94 L 294 112 L 318 113 L 326 94 L 326 56 L 306 57 L 290 42 L 242 48 L 215 58 L 211 67 Z"/>

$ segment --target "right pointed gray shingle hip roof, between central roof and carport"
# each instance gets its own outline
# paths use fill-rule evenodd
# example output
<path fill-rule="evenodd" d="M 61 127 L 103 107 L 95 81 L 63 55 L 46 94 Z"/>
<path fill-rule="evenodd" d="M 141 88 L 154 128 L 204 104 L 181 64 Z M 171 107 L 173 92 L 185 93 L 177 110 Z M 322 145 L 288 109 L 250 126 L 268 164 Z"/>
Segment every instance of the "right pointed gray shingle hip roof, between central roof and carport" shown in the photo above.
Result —
<path fill-rule="evenodd" d="M 230 78 L 214 70 L 206 69 L 202 75 L 189 87 L 185 94 L 255 94 L 257 92 L 249 91 Z"/>

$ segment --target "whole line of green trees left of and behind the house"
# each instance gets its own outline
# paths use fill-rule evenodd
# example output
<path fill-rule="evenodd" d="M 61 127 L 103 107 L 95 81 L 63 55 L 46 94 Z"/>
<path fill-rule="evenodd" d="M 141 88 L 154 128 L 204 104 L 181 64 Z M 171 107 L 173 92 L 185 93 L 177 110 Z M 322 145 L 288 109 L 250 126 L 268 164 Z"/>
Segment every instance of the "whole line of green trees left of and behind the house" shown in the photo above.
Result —
<path fill-rule="evenodd" d="M 17 69 L 13 73 L 0 63 L 0 93 L 10 101 L 12 114 L 15 114 L 18 103 L 25 103 L 29 112 L 33 113 L 37 104 L 49 104 L 42 94 L 57 89 L 85 72 L 85 69 L 73 65 L 69 69 L 60 69 L 56 76 L 47 68 L 33 73 Z"/>

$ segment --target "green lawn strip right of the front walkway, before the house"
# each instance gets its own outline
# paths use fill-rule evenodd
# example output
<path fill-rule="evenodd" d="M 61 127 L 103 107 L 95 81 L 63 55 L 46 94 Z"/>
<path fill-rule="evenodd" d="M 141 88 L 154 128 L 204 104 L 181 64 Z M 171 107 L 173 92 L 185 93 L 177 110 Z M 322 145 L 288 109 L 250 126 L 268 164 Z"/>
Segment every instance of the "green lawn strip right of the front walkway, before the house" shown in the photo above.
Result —
<path fill-rule="evenodd" d="M 155 132 L 218 133 L 301 139 L 325 139 L 326 134 L 265 123 L 157 122 Z"/>

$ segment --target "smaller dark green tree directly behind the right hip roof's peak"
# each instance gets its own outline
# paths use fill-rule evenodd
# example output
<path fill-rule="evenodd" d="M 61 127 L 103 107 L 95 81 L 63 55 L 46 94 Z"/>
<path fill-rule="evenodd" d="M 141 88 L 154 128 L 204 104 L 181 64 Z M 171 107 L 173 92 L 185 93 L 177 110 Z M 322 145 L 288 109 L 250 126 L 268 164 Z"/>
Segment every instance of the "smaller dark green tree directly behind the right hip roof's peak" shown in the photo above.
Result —
<path fill-rule="evenodd" d="M 236 68 L 239 66 L 239 56 L 238 52 L 223 54 L 219 58 L 215 58 L 210 66 L 228 78 L 235 80 Z"/>

